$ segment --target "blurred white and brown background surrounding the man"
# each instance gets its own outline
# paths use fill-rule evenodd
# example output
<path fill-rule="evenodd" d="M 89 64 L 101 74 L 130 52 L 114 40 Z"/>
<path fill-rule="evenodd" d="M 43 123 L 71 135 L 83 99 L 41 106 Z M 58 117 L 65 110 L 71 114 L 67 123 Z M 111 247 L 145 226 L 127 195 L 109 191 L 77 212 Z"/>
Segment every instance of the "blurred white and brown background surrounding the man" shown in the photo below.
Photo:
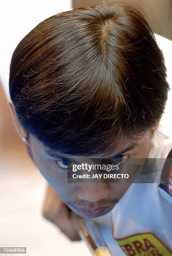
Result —
<path fill-rule="evenodd" d="M 130 0 L 126 0 L 130 2 Z M 20 40 L 45 18 L 112 0 L 1 1 L 0 40 L 0 247 L 27 247 L 29 256 L 86 256 L 85 243 L 70 242 L 41 215 L 46 182 L 27 155 L 24 143 L 13 127 L 7 107 L 10 59 Z M 118 0 L 117 2 L 120 2 Z M 172 0 L 135 0 L 162 49 L 167 81 L 172 86 Z M 160 128 L 172 136 L 172 92 L 169 93 Z"/>

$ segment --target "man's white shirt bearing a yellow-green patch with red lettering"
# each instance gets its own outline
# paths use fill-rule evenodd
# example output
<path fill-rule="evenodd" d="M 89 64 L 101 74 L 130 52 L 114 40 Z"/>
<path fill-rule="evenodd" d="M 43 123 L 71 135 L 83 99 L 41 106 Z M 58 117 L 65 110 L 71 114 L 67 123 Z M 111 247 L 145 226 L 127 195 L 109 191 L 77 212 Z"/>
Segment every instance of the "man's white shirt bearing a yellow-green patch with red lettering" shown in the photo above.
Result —
<path fill-rule="evenodd" d="M 172 196 L 159 187 L 171 149 L 172 140 L 156 133 L 148 158 L 162 159 L 157 183 L 133 183 L 111 212 L 94 219 L 112 255 L 172 255 Z"/>

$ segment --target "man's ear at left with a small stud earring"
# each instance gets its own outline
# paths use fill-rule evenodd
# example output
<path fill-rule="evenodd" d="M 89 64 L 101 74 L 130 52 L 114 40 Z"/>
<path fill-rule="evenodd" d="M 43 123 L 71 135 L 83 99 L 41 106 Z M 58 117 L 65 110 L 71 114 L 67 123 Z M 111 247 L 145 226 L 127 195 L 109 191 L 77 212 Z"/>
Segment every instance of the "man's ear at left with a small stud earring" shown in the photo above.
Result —
<path fill-rule="evenodd" d="M 27 140 L 27 132 L 23 128 L 23 126 L 20 124 L 20 122 L 17 118 L 16 112 L 15 112 L 15 107 L 14 107 L 14 104 L 13 104 L 12 100 L 9 99 L 7 103 L 8 103 L 8 107 L 10 108 L 10 112 L 11 112 L 11 115 L 12 115 L 12 120 L 13 120 L 13 123 L 14 123 L 14 126 L 15 126 L 15 129 L 16 129 L 17 133 L 19 134 L 21 139 L 26 138 L 25 143 L 29 146 L 29 143 L 28 143 L 28 140 Z"/>

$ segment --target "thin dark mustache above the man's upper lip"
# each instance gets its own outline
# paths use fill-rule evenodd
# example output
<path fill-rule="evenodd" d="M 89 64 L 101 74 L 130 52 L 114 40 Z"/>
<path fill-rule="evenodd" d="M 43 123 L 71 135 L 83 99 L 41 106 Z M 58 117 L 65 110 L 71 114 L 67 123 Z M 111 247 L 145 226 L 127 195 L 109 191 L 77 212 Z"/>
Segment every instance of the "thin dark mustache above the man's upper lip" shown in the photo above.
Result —
<path fill-rule="evenodd" d="M 115 205 L 119 202 L 119 200 L 116 198 L 114 200 L 100 200 L 97 202 L 89 202 L 86 200 L 75 200 L 75 201 L 66 201 L 65 203 L 70 206 L 75 207 L 85 207 L 85 208 L 97 208 L 97 207 L 108 207 L 110 205 Z"/>

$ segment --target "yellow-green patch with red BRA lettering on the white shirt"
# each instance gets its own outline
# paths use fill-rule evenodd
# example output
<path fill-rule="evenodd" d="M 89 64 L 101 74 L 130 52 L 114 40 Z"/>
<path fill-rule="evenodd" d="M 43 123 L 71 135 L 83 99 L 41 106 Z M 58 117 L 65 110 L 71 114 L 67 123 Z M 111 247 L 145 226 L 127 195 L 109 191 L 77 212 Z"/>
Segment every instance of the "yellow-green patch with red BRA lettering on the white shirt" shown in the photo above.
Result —
<path fill-rule="evenodd" d="M 172 251 L 153 233 L 140 233 L 115 240 L 129 256 L 172 256 Z"/>

